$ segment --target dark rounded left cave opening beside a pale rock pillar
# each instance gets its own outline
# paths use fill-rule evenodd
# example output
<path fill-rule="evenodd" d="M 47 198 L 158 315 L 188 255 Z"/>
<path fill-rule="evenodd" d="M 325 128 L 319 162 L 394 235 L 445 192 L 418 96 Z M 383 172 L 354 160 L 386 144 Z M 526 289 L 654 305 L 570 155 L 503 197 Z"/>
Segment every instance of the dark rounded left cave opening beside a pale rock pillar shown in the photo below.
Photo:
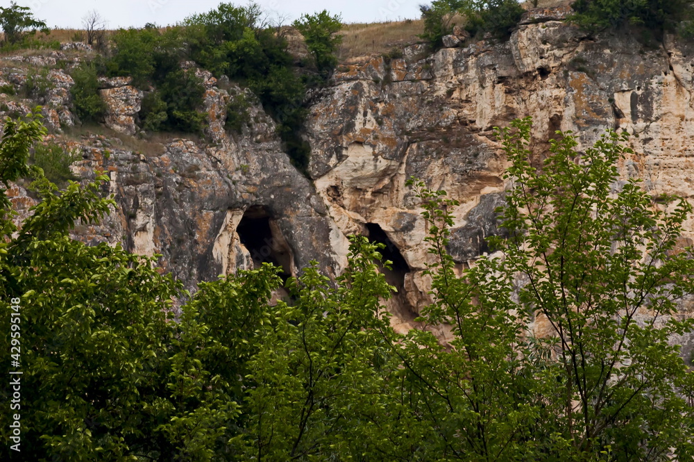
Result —
<path fill-rule="evenodd" d="M 266 208 L 248 208 L 236 232 L 242 245 L 251 254 L 254 268 L 260 267 L 263 263 L 272 263 L 282 268 L 280 277 L 285 283 L 294 275 L 291 249 Z"/>

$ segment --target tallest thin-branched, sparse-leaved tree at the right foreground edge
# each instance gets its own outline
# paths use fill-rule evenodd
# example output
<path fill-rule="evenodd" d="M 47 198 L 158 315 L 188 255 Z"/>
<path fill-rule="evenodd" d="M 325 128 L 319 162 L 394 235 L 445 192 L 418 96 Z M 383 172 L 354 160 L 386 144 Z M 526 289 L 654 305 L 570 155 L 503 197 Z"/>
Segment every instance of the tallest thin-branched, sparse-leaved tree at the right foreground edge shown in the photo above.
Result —
<path fill-rule="evenodd" d="M 511 161 L 503 226 L 512 237 L 493 243 L 505 253 L 506 274 L 528 281 L 516 310 L 552 327 L 548 418 L 579 453 L 611 447 L 627 461 L 675 448 L 691 458 L 685 397 L 694 374 L 668 344 L 694 327 L 675 315 L 676 301 L 694 292 L 691 248 L 675 251 L 691 205 L 668 197 L 654 206 L 634 179 L 612 191 L 618 160 L 632 154 L 625 135 L 608 132 L 585 154 L 573 135 L 550 140 L 538 172 L 528 160 L 530 120 L 514 126 L 499 131 Z"/>

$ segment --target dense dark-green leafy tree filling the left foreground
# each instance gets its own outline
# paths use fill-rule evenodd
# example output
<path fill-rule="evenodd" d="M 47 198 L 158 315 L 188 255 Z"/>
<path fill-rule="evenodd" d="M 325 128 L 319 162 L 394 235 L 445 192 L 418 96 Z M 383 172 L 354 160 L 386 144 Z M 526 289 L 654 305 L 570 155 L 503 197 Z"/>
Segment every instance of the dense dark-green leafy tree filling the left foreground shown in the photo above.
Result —
<path fill-rule="evenodd" d="M 174 300 L 186 294 L 155 269 L 156 256 L 69 238 L 75 224 L 96 222 L 114 202 L 102 197 L 108 176 L 58 194 L 28 167 L 45 133 L 30 115 L 6 121 L 0 141 L 0 324 L 10 332 L 10 300 L 19 298 L 11 322 L 21 327 L 12 345 L 23 372 L 15 410 L 22 459 L 219 460 L 238 432 L 239 374 L 260 319 L 253 306 L 266 306 L 276 270 L 202 284 L 174 322 Z M 37 178 L 40 202 L 18 228 L 5 191 L 27 175 Z M 0 343 L 9 354 L 9 336 Z M 3 400 L 11 394 L 3 384 Z M 9 440 L 7 425 L 2 437 Z M 12 460 L 8 445 L 2 454 Z"/>

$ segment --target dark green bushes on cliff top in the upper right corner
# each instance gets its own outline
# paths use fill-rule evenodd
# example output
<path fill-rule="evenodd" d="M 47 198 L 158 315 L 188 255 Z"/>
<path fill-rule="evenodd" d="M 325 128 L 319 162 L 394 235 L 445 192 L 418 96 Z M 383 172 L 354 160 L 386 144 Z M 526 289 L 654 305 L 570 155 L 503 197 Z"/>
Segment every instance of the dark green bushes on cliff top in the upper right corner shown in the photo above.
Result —
<path fill-rule="evenodd" d="M 577 0 L 573 21 L 589 31 L 618 28 L 627 24 L 644 26 L 646 30 L 685 31 L 694 10 L 688 0 Z"/>

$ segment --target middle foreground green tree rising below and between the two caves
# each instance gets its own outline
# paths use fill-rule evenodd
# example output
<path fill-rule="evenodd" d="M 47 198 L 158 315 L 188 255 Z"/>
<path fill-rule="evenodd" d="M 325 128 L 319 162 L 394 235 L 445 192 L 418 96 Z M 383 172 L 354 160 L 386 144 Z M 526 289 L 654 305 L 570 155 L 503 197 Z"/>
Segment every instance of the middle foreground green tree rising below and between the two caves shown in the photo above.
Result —
<path fill-rule="evenodd" d="M 294 302 L 271 309 L 248 363 L 257 384 L 248 394 L 244 460 L 343 460 L 355 454 L 363 413 L 378 408 L 389 361 L 388 317 L 379 297 L 389 286 L 377 248 L 353 238 L 350 265 L 332 288 L 314 263 L 291 281 Z M 376 401 L 369 404 L 373 395 Z M 366 455 L 366 454 L 364 454 Z"/>

